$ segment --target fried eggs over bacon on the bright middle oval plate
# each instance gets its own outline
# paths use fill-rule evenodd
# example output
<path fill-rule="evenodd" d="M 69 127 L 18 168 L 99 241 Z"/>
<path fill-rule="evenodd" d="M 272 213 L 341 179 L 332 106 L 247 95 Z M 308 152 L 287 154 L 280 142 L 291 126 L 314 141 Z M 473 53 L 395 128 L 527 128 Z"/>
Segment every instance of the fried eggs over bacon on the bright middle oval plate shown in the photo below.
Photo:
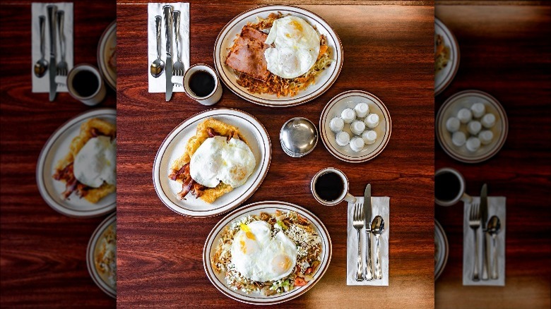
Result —
<path fill-rule="evenodd" d="M 242 140 L 223 136 L 207 138 L 191 157 L 191 178 L 208 188 L 223 183 L 237 188 L 247 181 L 256 166 L 251 148 Z"/>

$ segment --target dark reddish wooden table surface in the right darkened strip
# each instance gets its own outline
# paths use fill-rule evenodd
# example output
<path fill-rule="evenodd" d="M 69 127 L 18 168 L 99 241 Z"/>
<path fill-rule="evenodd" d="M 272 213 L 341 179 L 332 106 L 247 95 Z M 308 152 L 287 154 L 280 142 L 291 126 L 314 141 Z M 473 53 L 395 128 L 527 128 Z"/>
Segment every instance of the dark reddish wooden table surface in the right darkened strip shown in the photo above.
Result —
<path fill-rule="evenodd" d="M 435 111 L 461 90 L 490 93 L 509 118 L 509 136 L 492 159 L 463 164 L 436 143 L 437 169 L 451 166 L 466 178 L 467 193 L 506 196 L 504 287 L 463 286 L 463 207 L 436 208 L 450 243 L 436 281 L 437 308 L 550 308 L 551 257 L 551 36 L 550 6 L 437 5 L 436 16 L 456 36 L 456 78 L 436 97 Z"/>

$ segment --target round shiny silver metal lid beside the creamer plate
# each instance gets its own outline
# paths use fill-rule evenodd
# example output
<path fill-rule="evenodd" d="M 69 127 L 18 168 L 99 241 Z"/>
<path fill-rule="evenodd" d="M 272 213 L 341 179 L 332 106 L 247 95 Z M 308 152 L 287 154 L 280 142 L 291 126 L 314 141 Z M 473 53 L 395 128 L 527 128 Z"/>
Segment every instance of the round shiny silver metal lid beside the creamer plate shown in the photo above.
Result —
<path fill-rule="evenodd" d="M 283 151 L 290 157 L 303 157 L 316 147 L 318 130 L 312 121 L 295 117 L 283 124 L 279 140 Z"/>

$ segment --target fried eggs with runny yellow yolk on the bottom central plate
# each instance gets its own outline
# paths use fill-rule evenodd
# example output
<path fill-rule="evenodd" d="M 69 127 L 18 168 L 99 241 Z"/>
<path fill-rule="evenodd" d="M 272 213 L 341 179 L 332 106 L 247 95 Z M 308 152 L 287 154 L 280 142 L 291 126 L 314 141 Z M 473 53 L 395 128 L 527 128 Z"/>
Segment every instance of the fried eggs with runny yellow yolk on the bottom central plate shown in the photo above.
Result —
<path fill-rule="evenodd" d="M 232 243 L 232 263 L 244 277 L 253 281 L 273 281 L 287 277 L 297 265 L 297 245 L 283 231 L 271 237 L 264 221 L 242 224 Z"/>

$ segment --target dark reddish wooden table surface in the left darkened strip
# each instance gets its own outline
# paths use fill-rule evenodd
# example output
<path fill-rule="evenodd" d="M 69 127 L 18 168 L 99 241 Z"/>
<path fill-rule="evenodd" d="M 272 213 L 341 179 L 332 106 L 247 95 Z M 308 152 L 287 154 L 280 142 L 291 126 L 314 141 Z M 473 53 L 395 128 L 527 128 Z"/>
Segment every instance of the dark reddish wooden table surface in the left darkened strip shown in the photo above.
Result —
<path fill-rule="evenodd" d="M 89 111 L 69 93 L 49 102 L 31 93 L 31 1 L 0 4 L 1 307 L 114 307 L 92 281 L 86 247 L 104 217 L 72 219 L 52 210 L 35 181 L 38 154 L 49 136 Z M 97 42 L 115 19 L 114 1 L 74 4 L 74 63 L 97 63 Z M 97 65 L 97 64 L 96 64 Z M 100 107 L 115 107 L 108 90 Z"/>

